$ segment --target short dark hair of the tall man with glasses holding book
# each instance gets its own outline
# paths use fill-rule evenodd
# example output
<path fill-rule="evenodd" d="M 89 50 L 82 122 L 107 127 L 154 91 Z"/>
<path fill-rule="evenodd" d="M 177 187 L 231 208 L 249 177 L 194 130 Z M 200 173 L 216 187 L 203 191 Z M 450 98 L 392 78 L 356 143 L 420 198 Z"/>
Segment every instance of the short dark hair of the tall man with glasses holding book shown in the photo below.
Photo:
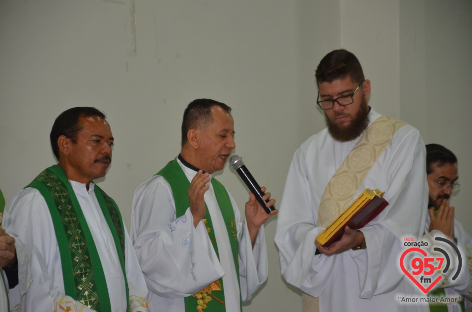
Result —
<path fill-rule="evenodd" d="M 359 60 L 351 52 L 341 49 L 326 54 L 316 69 L 316 82 L 331 83 L 338 79 L 351 76 L 354 83 L 360 84 L 364 78 L 362 66 Z"/>

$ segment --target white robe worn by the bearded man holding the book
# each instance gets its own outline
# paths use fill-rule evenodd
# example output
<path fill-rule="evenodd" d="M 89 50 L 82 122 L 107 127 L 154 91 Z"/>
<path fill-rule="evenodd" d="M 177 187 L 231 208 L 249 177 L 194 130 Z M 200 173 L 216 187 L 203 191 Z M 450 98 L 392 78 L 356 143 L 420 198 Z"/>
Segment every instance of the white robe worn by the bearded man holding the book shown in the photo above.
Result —
<path fill-rule="evenodd" d="M 380 116 L 371 109 L 369 125 Z M 322 312 L 414 311 L 398 299 L 419 291 L 400 270 L 399 258 L 404 237 L 422 236 L 427 212 L 425 147 L 412 126 L 396 131 L 353 197 L 379 189 L 389 203 L 362 228 L 367 249 L 315 255 L 315 239 L 324 229 L 317 225 L 324 189 L 358 140 L 338 142 L 324 129 L 296 150 L 275 235 L 282 275 L 319 297 Z"/>

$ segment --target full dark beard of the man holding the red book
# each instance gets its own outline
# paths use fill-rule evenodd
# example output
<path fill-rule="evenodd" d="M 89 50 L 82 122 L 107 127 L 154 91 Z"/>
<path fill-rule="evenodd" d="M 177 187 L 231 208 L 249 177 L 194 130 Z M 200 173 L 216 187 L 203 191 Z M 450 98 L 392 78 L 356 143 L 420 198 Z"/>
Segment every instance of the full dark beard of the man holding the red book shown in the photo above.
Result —
<path fill-rule="evenodd" d="M 365 100 L 365 97 L 362 97 L 359 111 L 356 113 L 349 126 L 340 127 L 334 124 L 328 119 L 326 114 L 324 114 L 324 120 L 326 120 L 329 134 L 334 140 L 339 142 L 352 141 L 359 137 L 369 125 L 369 107 L 367 106 L 367 101 Z"/>

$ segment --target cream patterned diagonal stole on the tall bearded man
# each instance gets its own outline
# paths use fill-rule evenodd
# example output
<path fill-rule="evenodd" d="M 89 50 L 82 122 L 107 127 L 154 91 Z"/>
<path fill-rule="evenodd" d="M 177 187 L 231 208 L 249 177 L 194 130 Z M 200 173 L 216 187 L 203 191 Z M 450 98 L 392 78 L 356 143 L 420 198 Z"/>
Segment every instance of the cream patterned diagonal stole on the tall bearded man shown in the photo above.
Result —
<path fill-rule="evenodd" d="M 324 189 L 318 209 L 318 226 L 327 227 L 349 206 L 377 158 L 395 132 L 405 125 L 406 122 L 387 116 L 372 122 Z M 320 311 L 319 299 L 304 293 L 301 311 Z"/>

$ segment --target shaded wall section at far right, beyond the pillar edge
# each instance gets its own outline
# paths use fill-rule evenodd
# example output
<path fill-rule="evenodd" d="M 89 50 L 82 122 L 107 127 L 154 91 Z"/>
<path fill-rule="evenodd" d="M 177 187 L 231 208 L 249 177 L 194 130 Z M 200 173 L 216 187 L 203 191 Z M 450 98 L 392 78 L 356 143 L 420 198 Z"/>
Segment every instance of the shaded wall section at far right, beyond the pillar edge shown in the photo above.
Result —
<path fill-rule="evenodd" d="M 472 2 L 400 1 L 400 117 L 458 158 L 455 216 L 472 234 Z"/>

